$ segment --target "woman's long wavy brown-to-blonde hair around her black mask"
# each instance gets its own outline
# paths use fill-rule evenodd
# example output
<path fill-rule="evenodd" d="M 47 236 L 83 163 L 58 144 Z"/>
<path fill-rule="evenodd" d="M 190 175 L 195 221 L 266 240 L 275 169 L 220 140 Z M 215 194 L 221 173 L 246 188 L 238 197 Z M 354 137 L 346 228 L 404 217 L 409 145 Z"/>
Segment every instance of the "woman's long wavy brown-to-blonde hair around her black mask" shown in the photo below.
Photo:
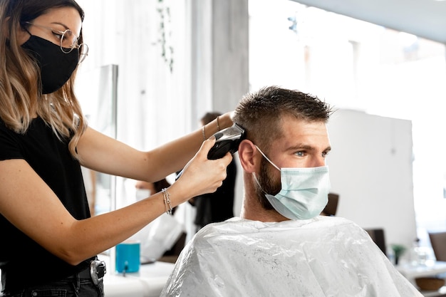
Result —
<path fill-rule="evenodd" d="M 43 95 L 40 68 L 16 39 L 27 21 L 66 6 L 77 9 L 83 21 L 83 10 L 73 0 L 0 0 L 0 118 L 6 127 L 24 134 L 37 113 L 59 139 L 71 137 L 68 147 L 78 158 L 76 145 L 87 123 L 74 93 L 76 71 L 61 89 Z"/>

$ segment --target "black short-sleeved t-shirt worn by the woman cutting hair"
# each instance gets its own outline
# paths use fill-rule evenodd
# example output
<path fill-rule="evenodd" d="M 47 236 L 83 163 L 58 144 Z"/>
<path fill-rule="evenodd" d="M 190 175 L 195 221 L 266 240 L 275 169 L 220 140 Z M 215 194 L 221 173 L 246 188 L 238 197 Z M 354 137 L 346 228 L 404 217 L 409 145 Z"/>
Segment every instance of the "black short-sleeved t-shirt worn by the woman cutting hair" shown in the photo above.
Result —
<path fill-rule="evenodd" d="M 0 161 L 23 159 L 50 187 L 76 219 L 90 217 L 81 165 L 41 118 L 21 135 L 0 120 Z M 4 289 L 16 291 L 72 275 L 88 265 L 72 266 L 43 249 L 0 214 L 0 268 Z"/>

